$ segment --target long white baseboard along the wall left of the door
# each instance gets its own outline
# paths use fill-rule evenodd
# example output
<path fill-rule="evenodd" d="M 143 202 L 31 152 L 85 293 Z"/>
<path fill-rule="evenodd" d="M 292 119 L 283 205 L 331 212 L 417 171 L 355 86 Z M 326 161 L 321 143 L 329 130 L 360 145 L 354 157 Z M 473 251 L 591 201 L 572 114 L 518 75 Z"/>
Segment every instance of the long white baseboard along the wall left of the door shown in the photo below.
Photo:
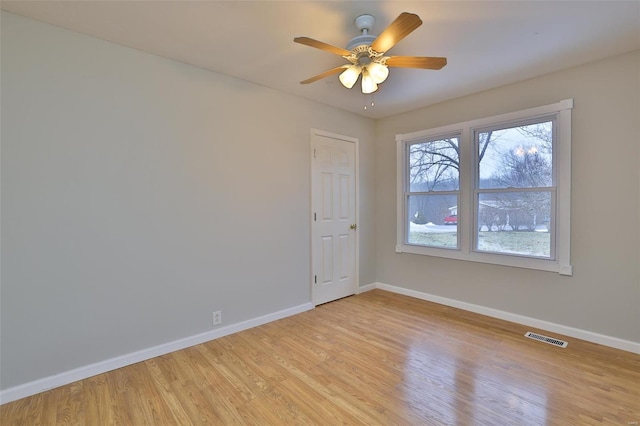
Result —
<path fill-rule="evenodd" d="M 237 333 L 239 331 L 247 330 L 262 324 L 296 315 L 310 309 L 313 309 L 313 304 L 304 303 L 302 305 L 283 309 L 281 311 L 273 312 L 271 314 L 263 315 L 247 321 L 231 324 L 226 327 L 217 328 L 205 333 L 200 333 L 194 336 L 185 337 L 183 339 L 174 340 L 173 342 L 164 343 L 148 349 L 143 349 L 130 354 L 100 361 L 95 364 L 76 368 L 70 371 L 65 371 L 60 374 L 45 377 L 43 379 L 34 380 L 32 382 L 18 385 L 12 388 L 7 388 L 0 391 L 0 405 L 7 402 L 15 401 L 17 399 L 25 398 L 27 396 L 35 395 L 49 389 L 57 388 L 59 386 L 64 386 L 78 380 L 86 379 L 97 374 L 106 373 L 107 371 L 126 367 L 127 365 L 146 361 L 160 355 L 165 355 L 170 352 L 175 352 L 177 350 L 188 348 L 190 346 L 199 345 L 200 343 L 208 342 L 219 337 L 228 336 L 229 334 Z"/>

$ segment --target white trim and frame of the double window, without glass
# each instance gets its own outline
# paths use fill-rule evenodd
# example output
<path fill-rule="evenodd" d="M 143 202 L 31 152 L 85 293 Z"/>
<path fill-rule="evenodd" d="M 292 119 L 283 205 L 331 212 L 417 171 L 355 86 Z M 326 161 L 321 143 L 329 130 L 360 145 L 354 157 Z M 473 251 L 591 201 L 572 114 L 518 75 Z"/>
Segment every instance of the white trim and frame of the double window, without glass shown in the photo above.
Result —
<path fill-rule="evenodd" d="M 449 259 L 467 260 L 471 262 L 491 263 L 519 268 L 537 269 L 572 275 L 571 266 L 571 110 L 573 99 L 565 99 L 555 104 L 530 108 L 522 111 L 487 117 L 478 120 L 457 123 L 435 129 L 421 130 L 413 133 L 396 135 L 397 160 L 397 221 L 396 221 L 396 253 L 413 253 L 427 256 L 445 257 Z M 557 134 L 554 147 L 556 167 L 556 220 L 555 259 L 539 259 L 508 254 L 482 253 L 472 249 L 471 217 L 474 191 L 474 129 L 496 126 L 517 120 L 533 119 L 556 115 Z M 441 134 L 460 133 L 460 205 L 458 206 L 459 244 L 458 250 L 416 246 L 405 243 L 408 214 L 405 211 L 405 173 L 406 147 L 412 142 L 436 137 Z M 469 164 L 471 163 L 471 165 Z"/>

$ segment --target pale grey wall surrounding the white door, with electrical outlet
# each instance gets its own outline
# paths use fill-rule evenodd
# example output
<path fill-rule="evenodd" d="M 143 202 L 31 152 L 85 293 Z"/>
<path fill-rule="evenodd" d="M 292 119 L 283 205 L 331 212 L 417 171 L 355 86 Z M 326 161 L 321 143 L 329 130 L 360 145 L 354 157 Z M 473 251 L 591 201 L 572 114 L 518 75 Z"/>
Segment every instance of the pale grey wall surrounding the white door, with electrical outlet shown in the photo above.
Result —
<path fill-rule="evenodd" d="M 309 302 L 311 128 L 375 281 L 373 121 L 6 12 L 1 78 L 2 389 Z"/>

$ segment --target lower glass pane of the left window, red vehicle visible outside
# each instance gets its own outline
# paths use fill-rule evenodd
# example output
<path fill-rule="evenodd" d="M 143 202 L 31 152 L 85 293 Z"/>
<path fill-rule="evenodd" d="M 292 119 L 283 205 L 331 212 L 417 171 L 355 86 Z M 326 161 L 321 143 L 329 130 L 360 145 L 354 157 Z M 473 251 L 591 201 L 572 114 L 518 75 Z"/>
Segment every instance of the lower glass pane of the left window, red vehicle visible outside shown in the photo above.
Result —
<path fill-rule="evenodd" d="M 457 195 L 412 195 L 408 202 L 407 243 L 458 248 Z"/>

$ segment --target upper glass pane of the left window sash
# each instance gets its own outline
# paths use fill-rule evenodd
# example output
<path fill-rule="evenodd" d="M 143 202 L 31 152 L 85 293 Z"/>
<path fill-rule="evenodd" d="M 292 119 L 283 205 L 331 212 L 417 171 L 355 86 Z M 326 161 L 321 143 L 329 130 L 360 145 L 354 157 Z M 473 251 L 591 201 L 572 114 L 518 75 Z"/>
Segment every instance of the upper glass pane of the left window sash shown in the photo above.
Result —
<path fill-rule="evenodd" d="M 409 192 L 457 191 L 458 137 L 409 145 Z"/>

